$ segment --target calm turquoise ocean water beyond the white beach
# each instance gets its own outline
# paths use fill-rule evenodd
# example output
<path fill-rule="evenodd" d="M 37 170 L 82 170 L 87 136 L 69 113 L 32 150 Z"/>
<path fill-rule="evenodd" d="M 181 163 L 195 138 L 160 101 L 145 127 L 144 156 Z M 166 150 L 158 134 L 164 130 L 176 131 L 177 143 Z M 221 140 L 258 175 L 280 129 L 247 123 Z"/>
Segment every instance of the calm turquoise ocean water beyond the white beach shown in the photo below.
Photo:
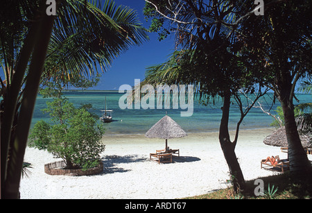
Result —
<path fill-rule="evenodd" d="M 194 110 L 191 117 L 180 117 L 181 111 L 177 109 L 173 110 L 172 107 L 169 110 L 139 110 L 119 108 L 119 99 L 123 94 L 119 94 L 118 91 L 85 91 L 85 92 L 64 92 L 69 101 L 74 103 L 77 107 L 82 103 L 91 103 L 93 105 L 92 112 L 98 114 L 101 117 L 101 111 L 105 107 L 105 97 L 107 101 L 107 110 L 114 110 L 113 119 L 111 123 L 104 123 L 105 134 L 145 134 L 150 127 L 152 127 L 159 119 L 162 119 L 166 115 L 170 116 L 182 128 L 188 133 L 202 133 L 202 132 L 214 132 L 218 131 L 221 119 L 221 106 L 222 100 L 216 99 L 215 103 L 209 103 L 207 106 L 198 103 L 198 97 L 194 101 Z M 272 94 L 271 94 L 272 96 Z M 311 103 L 312 97 L 310 94 L 298 94 L 297 98 L 300 103 Z M 33 114 L 32 126 L 35 122 L 43 119 L 49 122 L 48 114 L 42 114 L 42 109 L 46 108 L 46 101 L 51 99 L 43 99 L 42 96 L 37 97 L 35 111 Z M 155 101 L 156 102 L 156 101 Z M 271 99 L 266 96 L 259 101 L 265 110 L 269 110 L 272 105 Z M 235 103 L 233 101 L 233 103 Z M 294 101 L 295 104 L 297 102 Z M 156 103 L 155 103 L 156 104 Z M 172 105 L 171 105 L 172 106 Z M 272 105 L 270 112 L 274 112 L 279 106 L 277 101 Z M 231 106 L 229 128 L 234 130 L 236 128 L 236 122 L 239 121 L 240 112 L 235 104 Z M 272 117 L 265 114 L 259 108 L 252 108 L 247 117 L 241 123 L 241 129 L 256 129 L 270 127 Z"/>

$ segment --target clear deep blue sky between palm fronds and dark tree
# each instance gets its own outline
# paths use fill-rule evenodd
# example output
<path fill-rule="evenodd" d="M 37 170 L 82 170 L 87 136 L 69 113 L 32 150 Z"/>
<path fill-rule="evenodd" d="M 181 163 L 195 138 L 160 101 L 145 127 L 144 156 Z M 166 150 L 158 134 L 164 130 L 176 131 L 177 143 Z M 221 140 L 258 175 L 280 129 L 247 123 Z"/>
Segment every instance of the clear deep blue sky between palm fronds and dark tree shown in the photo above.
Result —
<path fill-rule="evenodd" d="M 143 15 L 144 0 L 114 0 L 116 6 L 123 5 L 137 11 L 139 20 L 148 28 Z M 112 62 L 112 67 L 102 74 L 101 80 L 92 90 L 119 90 L 123 84 L 133 86 L 135 79 L 144 79 L 146 67 L 165 62 L 174 50 L 173 38 L 159 42 L 157 33 L 148 33 L 150 40 L 140 46 L 132 46 Z"/>

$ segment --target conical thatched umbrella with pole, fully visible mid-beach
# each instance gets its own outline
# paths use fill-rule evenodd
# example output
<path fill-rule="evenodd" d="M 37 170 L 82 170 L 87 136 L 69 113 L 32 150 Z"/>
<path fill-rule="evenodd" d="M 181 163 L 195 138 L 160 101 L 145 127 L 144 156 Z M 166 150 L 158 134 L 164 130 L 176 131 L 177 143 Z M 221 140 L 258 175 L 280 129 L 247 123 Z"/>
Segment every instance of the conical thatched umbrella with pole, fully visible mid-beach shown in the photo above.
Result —
<path fill-rule="evenodd" d="M 150 128 L 145 134 L 146 137 L 149 138 L 162 138 L 166 139 L 166 150 L 168 147 L 167 139 L 171 138 L 179 138 L 187 136 L 187 133 L 181 128 L 179 124 L 177 124 L 171 117 L 166 115 L 162 119 L 160 119 L 157 123 Z"/>

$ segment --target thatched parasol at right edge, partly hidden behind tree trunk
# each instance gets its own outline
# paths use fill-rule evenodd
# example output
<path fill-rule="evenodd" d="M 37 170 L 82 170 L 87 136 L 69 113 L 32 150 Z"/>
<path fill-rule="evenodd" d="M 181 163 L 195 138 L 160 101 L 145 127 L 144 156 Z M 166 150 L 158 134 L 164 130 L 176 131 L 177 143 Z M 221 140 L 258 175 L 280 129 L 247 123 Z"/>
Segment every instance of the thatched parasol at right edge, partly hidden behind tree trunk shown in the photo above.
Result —
<path fill-rule="evenodd" d="M 312 147 L 312 144 L 310 142 L 310 137 L 306 135 L 300 135 L 300 139 L 302 142 L 302 146 L 304 148 Z M 287 137 L 286 137 L 286 130 L 285 127 L 281 127 L 277 130 L 275 130 L 271 135 L 268 135 L 264 140 L 264 144 L 270 145 L 270 146 L 283 146 L 287 147 Z"/>

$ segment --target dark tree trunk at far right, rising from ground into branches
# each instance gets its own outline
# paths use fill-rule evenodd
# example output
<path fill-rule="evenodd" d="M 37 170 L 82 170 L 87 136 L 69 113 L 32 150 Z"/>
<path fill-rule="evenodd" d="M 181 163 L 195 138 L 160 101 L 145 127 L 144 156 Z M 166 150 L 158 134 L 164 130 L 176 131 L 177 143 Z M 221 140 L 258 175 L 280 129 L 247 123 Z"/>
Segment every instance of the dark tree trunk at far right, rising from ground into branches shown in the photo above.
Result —
<path fill-rule="evenodd" d="M 281 10 L 276 10 L 280 14 Z M 277 15 L 277 14 L 276 14 Z M 284 30 L 279 24 L 279 16 L 272 17 L 272 24 L 274 24 L 274 31 L 272 36 L 276 37 L 275 47 L 272 49 L 273 64 L 276 67 L 276 86 L 275 92 L 278 95 L 278 99 L 281 103 L 281 108 L 284 113 L 284 122 L 286 137 L 288 142 L 288 159 L 290 162 L 291 172 L 296 175 L 304 175 L 306 169 L 311 167 L 304 148 L 302 147 L 301 140 L 297 131 L 297 125 L 295 123 L 295 113 L 293 106 L 293 96 L 295 93 L 295 85 L 297 81 L 302 78 L 302 71 L 300 67 L 293 67 L 291 62 L 288 62 L 288 53 L 284 51 Z"/>

